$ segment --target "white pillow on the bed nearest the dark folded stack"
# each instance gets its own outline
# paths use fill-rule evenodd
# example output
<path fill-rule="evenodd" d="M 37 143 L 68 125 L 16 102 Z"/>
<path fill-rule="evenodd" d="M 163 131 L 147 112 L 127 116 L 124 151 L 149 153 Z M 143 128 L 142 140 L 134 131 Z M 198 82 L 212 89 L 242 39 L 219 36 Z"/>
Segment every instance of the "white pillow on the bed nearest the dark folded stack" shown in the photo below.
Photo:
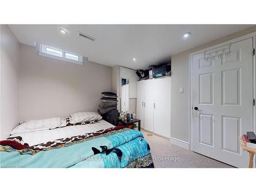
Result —
<path fill-rule="evenodd" d="M 100 119 L 102 119 L 102 117 L 96 112 L 79 112 L 70 115 L 70 123 L 72 124 Z"/>

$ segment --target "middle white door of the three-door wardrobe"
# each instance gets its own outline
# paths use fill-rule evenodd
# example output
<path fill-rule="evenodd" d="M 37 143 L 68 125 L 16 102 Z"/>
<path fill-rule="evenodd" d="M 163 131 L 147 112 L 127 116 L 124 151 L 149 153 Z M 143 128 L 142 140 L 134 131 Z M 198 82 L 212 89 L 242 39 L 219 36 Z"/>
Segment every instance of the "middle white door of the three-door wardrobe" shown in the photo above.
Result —
<path fill-rule="evenodd" d="M 154 132 L 154 92 L 153 79 L 145 80 L 144 129 L 151 132 Z"/>

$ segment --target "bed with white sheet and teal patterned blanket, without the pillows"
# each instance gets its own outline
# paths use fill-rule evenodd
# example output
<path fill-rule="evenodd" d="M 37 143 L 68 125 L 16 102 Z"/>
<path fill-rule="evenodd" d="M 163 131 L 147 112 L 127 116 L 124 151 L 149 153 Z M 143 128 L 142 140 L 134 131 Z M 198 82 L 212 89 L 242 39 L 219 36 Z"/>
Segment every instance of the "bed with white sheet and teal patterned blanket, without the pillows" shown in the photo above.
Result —
<path fill-rule="evenodd" d="M 21 142 L 22 141 L 22 142 Z M 13 134 L 0 141 L 1 167 L 153 168 L 139 131 L 99 120 Z"/>

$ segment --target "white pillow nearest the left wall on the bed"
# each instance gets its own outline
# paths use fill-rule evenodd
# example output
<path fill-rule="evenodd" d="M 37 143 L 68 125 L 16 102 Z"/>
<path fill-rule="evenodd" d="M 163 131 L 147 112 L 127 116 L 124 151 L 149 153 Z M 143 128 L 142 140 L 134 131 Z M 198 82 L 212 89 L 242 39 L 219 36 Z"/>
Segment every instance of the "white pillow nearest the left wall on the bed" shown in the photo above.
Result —
<path fill-rule="evenodd" d="M 11 131 L 11 135 L 17 133 L 28 133 L 33 131 L 55 129 L 57 127 L 61 127 L 63 121 L 66 121 L 66 118 L 54 117 L 49 119 L 23 121 Z"/>

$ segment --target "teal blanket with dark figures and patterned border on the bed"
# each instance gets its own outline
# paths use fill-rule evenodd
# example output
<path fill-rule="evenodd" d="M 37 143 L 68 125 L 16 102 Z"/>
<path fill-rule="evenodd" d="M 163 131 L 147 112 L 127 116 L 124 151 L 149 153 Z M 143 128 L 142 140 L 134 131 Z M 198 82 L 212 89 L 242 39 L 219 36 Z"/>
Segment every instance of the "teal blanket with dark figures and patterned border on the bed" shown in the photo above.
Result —
<path fill-rule="evenodd" d="M 105 153 L 102 146 L 109 153 Z M 98 153 L 95 154 L 95 151 Z M 86 140 L 45 148 L 42 151 L 0 147 L 1 167 L 119 168 L 134 166 L 136 163 L 146 166 L 153 162 L 149 145 L 141 132 L 130 129 L 112 131 Z"/>

